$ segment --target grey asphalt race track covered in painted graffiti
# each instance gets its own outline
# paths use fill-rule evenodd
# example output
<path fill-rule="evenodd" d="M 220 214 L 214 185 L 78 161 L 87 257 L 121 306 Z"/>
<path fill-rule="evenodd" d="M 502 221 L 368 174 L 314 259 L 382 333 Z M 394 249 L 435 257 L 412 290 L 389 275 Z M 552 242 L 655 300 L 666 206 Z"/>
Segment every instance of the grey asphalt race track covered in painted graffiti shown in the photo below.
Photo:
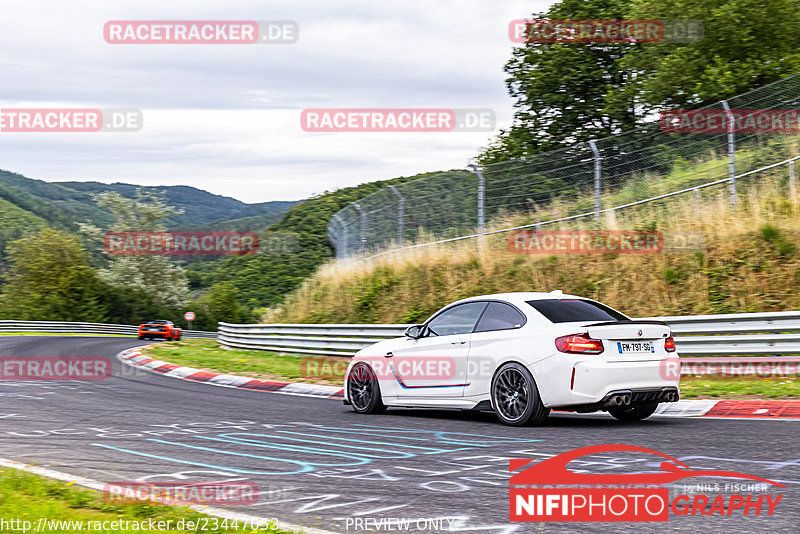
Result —
<path fill-rule="evenodd" d="M 141 344 L 0 336 L 0 357 L 106 356 L 113 362 L 107 380 L 0 380 L 0 457 L 102 482 L 252 480 L 259 502 L 233 508 L 337 532 L 375 529 L 380 518 L 410 518 L 414 532 L 797 530 L 800 421 L 653 417 L 623 424 L 564 414 L 543 427 L 515 429 L 479 413 L 390 410 L 365 416 L 341 401 L 176 380 L 115 358 Z M 783 497 L 772 517 L 738 511 L 730 517 L 671 516 L 668 523 L 509 522 L 510 458 L 544 459 L 610 443 L 655 449 L 695 469 L 758 475 L 787 488 L 779 491 Z M 595 455 L 570 467 L 658 472 L 656 458 Z M 738 481 L 693 478 L 670 490 L 677 495 L 687 493 L 685 485 L 726 482 Z M 425 526 L 424 520 L 437 518 L 440 528 Z M 420 519 L 418 530 L 414 521 Z"/>

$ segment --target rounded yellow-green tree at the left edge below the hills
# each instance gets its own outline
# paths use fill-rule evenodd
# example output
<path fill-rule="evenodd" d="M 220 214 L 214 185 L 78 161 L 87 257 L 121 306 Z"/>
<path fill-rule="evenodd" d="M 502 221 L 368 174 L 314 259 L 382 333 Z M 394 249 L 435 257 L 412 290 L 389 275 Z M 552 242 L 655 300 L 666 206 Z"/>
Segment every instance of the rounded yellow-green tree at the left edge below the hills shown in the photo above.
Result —
<path fill-rule="evenodd" d="M 0 313 L 28 321 L 102 322 L 103 284 L 86 260 L 80 240 L 45 228 L 8 247 L 10 268 Z"/>

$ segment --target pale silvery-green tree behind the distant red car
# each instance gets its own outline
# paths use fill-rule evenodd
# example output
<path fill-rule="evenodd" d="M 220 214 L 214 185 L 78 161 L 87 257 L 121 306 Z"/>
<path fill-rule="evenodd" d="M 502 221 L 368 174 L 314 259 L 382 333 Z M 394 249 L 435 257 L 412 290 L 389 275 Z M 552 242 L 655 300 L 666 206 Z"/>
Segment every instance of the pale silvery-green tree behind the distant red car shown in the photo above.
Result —
<path fill-rule="evenodd" d="M 165 219 L 181 213 L 168 206 L 163 195 L 137 190 L 136 198 L 126 198 L 116 192 L 93 195 L 98 206 L 108 209 L 116 222 L 115 232 L 163 232 Z M 103 232 L 92 225 L 82 224 L 84 234 L 102 239 Z M 189 286 L 183 268 L 165 256 L 112 256 L 108 268 L 100 277 L 115 287 L 142 289 L 156 305 L 180 308 L 189 298 Z"/>

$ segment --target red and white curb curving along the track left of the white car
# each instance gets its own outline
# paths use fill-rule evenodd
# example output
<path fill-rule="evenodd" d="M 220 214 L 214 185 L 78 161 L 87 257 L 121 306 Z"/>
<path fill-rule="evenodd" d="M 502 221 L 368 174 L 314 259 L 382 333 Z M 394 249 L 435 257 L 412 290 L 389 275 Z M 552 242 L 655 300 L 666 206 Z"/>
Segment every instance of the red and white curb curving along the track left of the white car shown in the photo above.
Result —
<path fill-rule="evenodd" d="M 284 395 L 301 395 L 303 397 L 344 398 L 344 389 L 336 386 L 304 384 L 301 382 L 276 382 L 272 380 L 257 380 L 247 376 L 211 373 L 193 367 L 184 367 L 162 360 L 155 360 L 142 354 L 139 347 L 124 350 L 117 354 L 117 358 L 124 364 L 139 367 L 153 373 L 182 380 L 191 380 L 192 382 L 203 382 L 212 386 L 282 393 Z"/>

